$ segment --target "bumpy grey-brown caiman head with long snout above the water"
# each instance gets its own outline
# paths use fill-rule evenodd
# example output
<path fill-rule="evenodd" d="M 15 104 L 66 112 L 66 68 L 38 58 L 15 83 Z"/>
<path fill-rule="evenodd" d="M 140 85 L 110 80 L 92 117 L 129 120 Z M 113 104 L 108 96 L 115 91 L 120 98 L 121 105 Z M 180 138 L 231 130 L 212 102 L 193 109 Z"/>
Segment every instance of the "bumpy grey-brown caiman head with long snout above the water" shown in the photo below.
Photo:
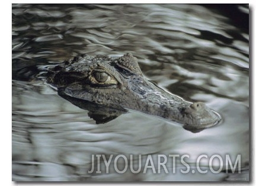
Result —
<path fill-rule="evenodd" d="M 108 108 L 131 109 L 204 129 L 220 116 L 201 102 L 169 94 L 143 76 L 137 58 L 79 56 L 49 70 L 47 82 L 61 94 Z"/>

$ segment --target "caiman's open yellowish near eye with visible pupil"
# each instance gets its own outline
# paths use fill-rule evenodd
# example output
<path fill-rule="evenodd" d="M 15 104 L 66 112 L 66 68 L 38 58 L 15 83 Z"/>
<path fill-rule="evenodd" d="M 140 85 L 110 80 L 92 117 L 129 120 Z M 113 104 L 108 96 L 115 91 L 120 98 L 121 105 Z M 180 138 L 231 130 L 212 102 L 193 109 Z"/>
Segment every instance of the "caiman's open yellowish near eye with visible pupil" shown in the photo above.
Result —
<path fill-rule="evenodd" d="M 117 85 L 117 80 L 109 75 L 104 69 L 94 69 L 91 72 L 90 81 L 92 85 L 110 86 Z"/>

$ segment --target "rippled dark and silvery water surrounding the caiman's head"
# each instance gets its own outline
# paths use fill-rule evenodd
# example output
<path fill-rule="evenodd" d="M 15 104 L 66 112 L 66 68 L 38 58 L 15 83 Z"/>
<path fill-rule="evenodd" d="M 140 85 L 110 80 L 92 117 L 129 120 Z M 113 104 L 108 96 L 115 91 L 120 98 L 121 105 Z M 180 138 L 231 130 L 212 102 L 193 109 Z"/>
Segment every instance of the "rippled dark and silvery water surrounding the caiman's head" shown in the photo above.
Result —
<path fill-rule="evenodd" d="M 13 181 L 248 181 L 248 24 L 247 5 L 13 4 Z M 187 101 L 205 102 L 222 114 L 222 124 L 191 133 L 130 111 L 97 125 L 42 78 L 49 65 L 79 53 L 127 52 L 148 79 Z M 202 159 L 207 174 L 182 174 L 180 161 L 175 174 L 88 174 L 97 154 L 142 155 L 143 161 L 148 155 L 189 155 L 195 170 L 203 154 L 241 155 L 242 172 L 227 174 L 223 166 L 213 174 Z"/>

